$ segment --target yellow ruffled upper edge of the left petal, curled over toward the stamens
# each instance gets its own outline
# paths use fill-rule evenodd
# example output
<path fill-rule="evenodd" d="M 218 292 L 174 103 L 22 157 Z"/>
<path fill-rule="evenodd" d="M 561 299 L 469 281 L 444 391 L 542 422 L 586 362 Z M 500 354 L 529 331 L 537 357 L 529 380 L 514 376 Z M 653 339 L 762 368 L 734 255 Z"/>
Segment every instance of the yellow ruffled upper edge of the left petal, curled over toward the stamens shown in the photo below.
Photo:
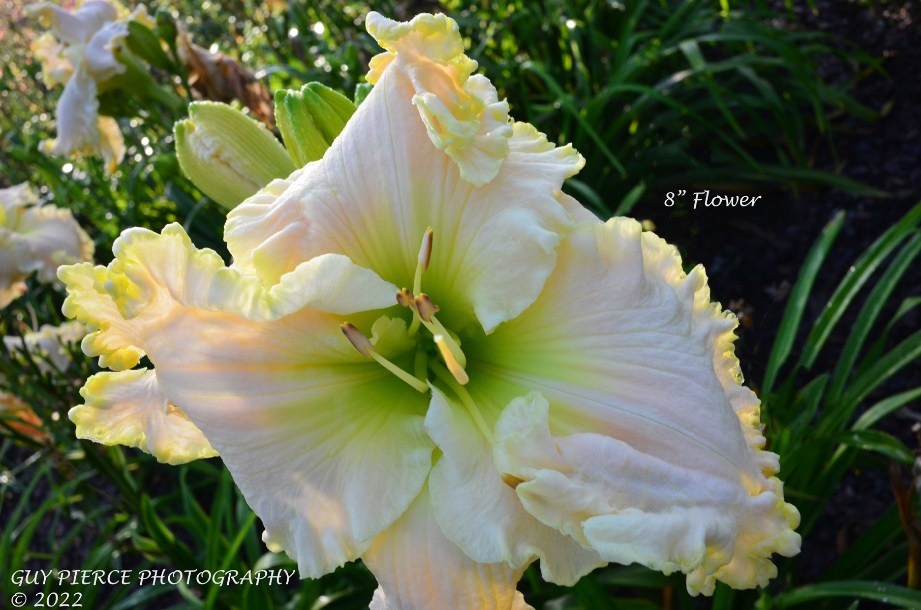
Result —
<path fill-rule="evenodd" d="M 178 223 L 160 234 L 127 229 L 112 252 L 115 260 L 108 267 L 58 269 L 68 293 L 64 315 L 90 331 L 83 339 L 84 353 L 99 356 L 99 366 L 112 370 L 131 369 L 140 361 L 146 325 L 163 323 L 174 303 L 267 322 L 305 307 L 342 315 L 384 309 L 397 293 L 391 283 L 341 254 L 301 263 L 266 290 L 258 277 L 227 267 L 216 252 L 192 245 Z"/>

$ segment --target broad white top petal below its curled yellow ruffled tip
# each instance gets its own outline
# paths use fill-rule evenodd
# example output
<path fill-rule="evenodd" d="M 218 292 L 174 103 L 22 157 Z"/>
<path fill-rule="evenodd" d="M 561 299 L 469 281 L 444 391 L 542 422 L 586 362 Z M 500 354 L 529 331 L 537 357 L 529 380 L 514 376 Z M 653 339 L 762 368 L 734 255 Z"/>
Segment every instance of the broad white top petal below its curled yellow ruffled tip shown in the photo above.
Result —
<path fill-rule="evenodd" d="M 527 308 L 552 271 L 572 227 L 556 197 L 580 158 L 571 147 L 516 150 L 495 180 L 474 188 L 427 141 L 412 91 L 402 72 L 386 70 L 324 158 L 281 194 L 257 194 L 228 214 L 227 245 L 266 287 L 330 252 L 411 287 L 431 226 L 426 294 L 451 303 L 451 328 L 478 320 L 489 331 Z"/>

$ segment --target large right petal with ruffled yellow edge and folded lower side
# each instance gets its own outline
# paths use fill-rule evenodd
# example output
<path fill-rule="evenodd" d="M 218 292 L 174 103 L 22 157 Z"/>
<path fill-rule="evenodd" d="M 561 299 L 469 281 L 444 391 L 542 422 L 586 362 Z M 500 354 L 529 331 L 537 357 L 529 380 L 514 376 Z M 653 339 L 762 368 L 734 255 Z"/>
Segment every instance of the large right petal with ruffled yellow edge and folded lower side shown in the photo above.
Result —
<path fill-rule="evenodd" d="M 500 471 L 533 482 L 518 487 L 525 508 L 605 558 L 701 566 L 692 592 L 714 579 L 764 586 L 775 575 L 767 557 L 799 549 L 799 514 L 768 478 L 776 457 L 761 451 L 758 401 L 740 384 L 735 324 L 709 302 L 703 269 L 685 275 L 675 249 L 634 220 L 580 225 L 541 298 L 499 327 L 488 351 L 467 344 L 484 354 L 471 372 L 481 393 L 539 390 L 550 402 L 549 428 L 518 416 L 502 433 L 540 451 L 509 449 L 518 457 L 506 463 L 497 454 Z M 502 435 L 497 426 L 497 443 Z M 559 463 L 560 452 L 570 459 Z M 621 478 L 602 483 L 593 469 Z M 656 496 L 663 489 L 672 495 Z M 581 531 L 589 522 L 593 537 Z"/>

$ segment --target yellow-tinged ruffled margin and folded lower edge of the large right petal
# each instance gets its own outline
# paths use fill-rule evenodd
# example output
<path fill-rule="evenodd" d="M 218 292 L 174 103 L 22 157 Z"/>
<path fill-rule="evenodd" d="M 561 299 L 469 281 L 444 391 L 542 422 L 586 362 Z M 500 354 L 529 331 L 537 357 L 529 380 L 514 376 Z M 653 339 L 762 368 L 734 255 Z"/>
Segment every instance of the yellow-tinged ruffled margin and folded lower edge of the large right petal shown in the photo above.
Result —
<path fill-rule="evenodd" d="M 773 476 L 777 456 L 763 450 L 758 398 L 741 385 L 732 346 L 736 317 L 710 302 L 702 266 L 685 274 L 677 249 L 642 232 L 635 220 L 583 223 L 570 241 L 578 255 L 600 257 L 605 265 L 641 264 L 646 284 L 670 287 L 677 311 L 690 310 L 688 338 L 712 354 L 746 440 L 747 452 L 733 458 L 740 476 L 668 463 L 603 434 L 552 436 L 541 393 L 519 396 L 500 416 L 499 473 L 510 476 L 509 485 L 532 515 L 606 560 L 680 570 L 693 595 L 712 594 L 716 581 L 736 589 L 766 586 L 777 573 L 771 555 L 799 553 L 800 537 L 793 531 L 799 511 L 784 501 L 783 484 Z M 598 267 L 586 266 L 585 273 L 592 268 Z"/>

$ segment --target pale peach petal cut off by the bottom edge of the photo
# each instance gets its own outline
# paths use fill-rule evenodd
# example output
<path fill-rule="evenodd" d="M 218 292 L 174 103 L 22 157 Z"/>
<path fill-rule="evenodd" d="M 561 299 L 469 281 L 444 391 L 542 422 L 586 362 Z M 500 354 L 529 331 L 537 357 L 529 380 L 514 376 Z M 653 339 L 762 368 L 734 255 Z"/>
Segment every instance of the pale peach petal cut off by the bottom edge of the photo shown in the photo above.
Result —
<path fill-rule="evenodd" d="M 379 582 L 371 610 L 533 610 L 515 590 L 523 568 L 476 563 L 441 533 L 427 486 L 361 558 Z"/>

